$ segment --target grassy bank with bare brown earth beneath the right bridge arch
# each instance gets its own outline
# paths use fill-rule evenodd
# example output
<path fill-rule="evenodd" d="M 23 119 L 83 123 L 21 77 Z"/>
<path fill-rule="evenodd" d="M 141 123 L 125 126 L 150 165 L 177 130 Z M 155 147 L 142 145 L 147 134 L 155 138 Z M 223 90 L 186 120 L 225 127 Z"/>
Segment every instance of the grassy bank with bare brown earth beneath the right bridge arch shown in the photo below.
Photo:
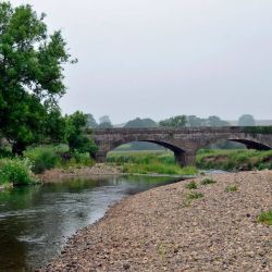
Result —
<path fill-rule="evenodd" d="M 199 169 L 221 170 L 263 170 L 272 169 L 272 150 L 258 151 L 249 149 L 238 150 L 199 150 L 197 153 Z"/>

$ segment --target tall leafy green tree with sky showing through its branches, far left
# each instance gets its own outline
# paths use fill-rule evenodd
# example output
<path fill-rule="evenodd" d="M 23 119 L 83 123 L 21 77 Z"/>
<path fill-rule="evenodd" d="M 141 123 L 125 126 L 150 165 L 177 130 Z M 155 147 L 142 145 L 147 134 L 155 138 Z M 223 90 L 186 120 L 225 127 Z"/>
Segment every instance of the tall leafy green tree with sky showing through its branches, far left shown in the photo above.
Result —
<path fill-rule="evenodd" d="M 47 124 L 65 94 L 63 64 L 75 62 L 44 18 L 30 5 L 0 3 L 0 133 L 17 154 L 52 136 Z"/>

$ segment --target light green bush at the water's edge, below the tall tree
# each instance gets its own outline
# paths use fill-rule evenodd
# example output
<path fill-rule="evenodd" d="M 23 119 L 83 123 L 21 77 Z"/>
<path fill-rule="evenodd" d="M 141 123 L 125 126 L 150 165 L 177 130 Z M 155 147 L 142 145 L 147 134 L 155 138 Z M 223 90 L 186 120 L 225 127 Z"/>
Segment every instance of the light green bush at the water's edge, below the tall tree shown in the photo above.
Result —
<path fill-rule="evenodd" d="M 0 160 L 0 184 L 27 185 L 35 183 L 32 164 L 28 159 Z"/>

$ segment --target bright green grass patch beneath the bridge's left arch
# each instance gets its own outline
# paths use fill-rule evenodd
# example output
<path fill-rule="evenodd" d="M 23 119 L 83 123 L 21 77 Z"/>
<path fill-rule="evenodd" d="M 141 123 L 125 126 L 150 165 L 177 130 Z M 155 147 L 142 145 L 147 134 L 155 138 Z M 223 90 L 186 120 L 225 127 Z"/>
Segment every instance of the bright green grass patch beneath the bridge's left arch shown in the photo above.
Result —
<path fill-rule="evenodd" d="M 165 151 L 113 151 L 108 156 L 109 163 L 115 163 L 123 166 L 124 173 L 137 174 L 169 174 L 169 175 L 194 175 L 196 168 L 181 168 L 175 164 L 171 152 Z"/>

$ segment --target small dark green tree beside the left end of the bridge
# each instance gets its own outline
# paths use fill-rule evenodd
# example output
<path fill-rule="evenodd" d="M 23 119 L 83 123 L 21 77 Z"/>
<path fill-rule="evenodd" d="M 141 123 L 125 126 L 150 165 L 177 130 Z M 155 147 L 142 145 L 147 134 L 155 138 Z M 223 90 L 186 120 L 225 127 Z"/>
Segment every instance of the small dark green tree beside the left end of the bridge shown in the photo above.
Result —
<path fill-rule="evenodd" d="M 97 146 L 92 140 L 85 136 L 87 115 L 76 111 L 66 119 L 66 140 L 71 152 L 92 154 L 97 151 Z"/>

